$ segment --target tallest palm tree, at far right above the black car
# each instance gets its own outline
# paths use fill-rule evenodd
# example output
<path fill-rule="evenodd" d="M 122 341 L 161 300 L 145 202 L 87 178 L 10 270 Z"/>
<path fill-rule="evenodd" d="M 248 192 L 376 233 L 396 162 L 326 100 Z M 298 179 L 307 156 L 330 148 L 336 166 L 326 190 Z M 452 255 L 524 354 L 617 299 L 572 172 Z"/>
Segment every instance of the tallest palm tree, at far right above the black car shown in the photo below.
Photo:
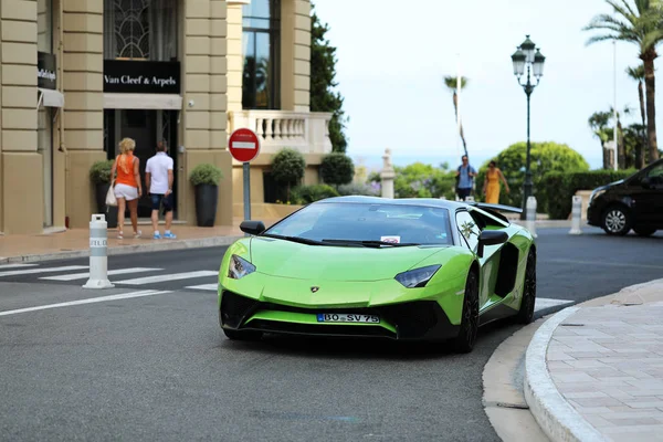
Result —
<path fill-rule="evenodd" d="M 635 8 L 630 4 L 631 1 Z M 612 7 L 617 17 L 609 14 L 594 17 L 583 30 L 602 30 L 608 33 L 590 38 L 587 44 L 613 40 L 633 43 L 640 48 L 646 88 L 649 159 L 652 162 L 659 159 L 654 60 L 659 56 L 656 45 L 663 40 L 663 13 L 659 6 L 660 0 L 606 0 L 606 2 Z"/>

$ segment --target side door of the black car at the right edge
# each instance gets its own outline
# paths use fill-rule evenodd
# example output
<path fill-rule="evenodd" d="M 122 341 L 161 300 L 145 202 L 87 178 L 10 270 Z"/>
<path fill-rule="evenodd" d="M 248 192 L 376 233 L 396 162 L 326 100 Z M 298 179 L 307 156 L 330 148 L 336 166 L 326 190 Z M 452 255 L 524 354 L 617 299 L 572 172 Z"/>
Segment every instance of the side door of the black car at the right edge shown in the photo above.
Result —
<path fill-rule="evenodd" d="M 649 169 L 632 194 L 638 223 L 663 229 L 663 161 Z"/>

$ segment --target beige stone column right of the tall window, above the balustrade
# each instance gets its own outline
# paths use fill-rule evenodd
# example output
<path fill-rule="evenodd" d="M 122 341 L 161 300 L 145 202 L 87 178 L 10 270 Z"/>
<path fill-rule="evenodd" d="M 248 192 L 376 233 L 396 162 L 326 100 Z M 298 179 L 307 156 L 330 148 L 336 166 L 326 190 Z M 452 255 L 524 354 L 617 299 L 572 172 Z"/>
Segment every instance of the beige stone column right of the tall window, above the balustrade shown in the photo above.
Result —
<path fill-rule="evenodd" d="M 311 2 L 284 0 L 281 20 L 281 107 L 311 110 Z"/>

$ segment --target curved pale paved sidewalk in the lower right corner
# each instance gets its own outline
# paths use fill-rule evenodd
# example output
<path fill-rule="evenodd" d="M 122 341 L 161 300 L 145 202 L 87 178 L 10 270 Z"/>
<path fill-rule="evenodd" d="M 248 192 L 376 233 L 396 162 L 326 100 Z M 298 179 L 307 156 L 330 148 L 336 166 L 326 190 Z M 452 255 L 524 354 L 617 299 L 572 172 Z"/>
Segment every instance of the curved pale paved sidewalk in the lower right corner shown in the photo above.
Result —
<path fill-rule="evenodd" d="M 663 280 L 551 316 L 526 354 L 525 397 L 552 441 L 663 441 Z"/>

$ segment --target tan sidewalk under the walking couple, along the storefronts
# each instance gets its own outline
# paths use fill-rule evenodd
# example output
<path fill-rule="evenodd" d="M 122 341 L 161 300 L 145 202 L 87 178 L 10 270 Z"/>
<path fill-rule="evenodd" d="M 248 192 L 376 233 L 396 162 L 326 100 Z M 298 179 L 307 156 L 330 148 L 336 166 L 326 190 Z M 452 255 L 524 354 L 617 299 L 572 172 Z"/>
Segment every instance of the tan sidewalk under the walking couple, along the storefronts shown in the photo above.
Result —
<path fill-rule="evenodd" d="M 234 225 L 198 228 L 172 225 L 175 240 L 152 240 L 151 225 L 138 225 L 143 231 L 139 239 L 134 239 L 130 224 L 125 223 L 124 240 L 117 239 L 117 229 L 108 229 L 108 255 L 127 253 L 159 252 L 166 250 L 210 248 L 232 244 L 242 238 L 240 219 Z M 269 227 L 275 220 L 265 220 Z M 162 230 L 164 227 L 160 225 Z M 0 236 L 0 264 L 17 262 L 35 262 L 49 260 L 66 260 L 90 256 L 90 230 L 71 229 L 63 232 Z"/>

